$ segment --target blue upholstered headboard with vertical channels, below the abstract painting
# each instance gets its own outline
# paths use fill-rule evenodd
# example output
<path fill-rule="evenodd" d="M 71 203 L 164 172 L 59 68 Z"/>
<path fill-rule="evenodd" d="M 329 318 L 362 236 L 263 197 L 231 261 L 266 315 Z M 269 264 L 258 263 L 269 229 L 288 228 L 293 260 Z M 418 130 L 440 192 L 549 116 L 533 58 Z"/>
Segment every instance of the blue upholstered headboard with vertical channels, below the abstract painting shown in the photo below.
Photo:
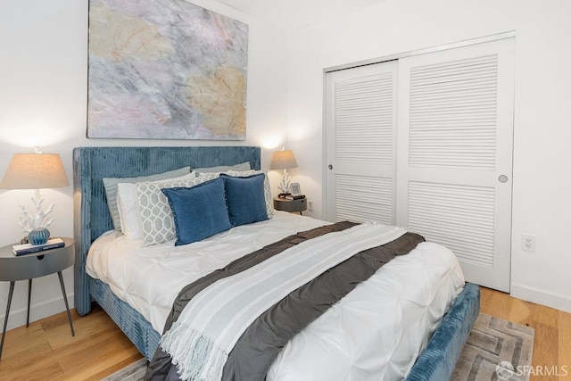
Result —
<path fill-rule="evenodd" d="M 85 271 L 87 251 L 97 236 L 113 228 L 103 178 L 133 178 L 181 167 L 192 168 L 250 162 L 261 169 L 261 149 L 255 146 L 78 147 L 73 150 L 73 230 L 75 244 L 75 308 L 91 310 Z"/>

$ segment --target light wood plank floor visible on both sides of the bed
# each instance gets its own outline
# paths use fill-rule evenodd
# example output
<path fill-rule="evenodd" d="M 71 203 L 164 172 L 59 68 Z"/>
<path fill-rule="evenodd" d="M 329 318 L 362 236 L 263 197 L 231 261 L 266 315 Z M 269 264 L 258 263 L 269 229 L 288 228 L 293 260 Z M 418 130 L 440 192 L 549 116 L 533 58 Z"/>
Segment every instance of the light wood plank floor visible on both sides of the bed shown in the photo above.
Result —
<path fill-rule="evenodd" d="M 534 366 L 567 369 L 532 380 L 571 380 L 571 314 L 485 288 L 481 311 L 535 329 Z M 100 308 L 72 317 L 75 337 L 65 312 L 8 331 L 0 380 L 99 380 L 142 358 Z"/>

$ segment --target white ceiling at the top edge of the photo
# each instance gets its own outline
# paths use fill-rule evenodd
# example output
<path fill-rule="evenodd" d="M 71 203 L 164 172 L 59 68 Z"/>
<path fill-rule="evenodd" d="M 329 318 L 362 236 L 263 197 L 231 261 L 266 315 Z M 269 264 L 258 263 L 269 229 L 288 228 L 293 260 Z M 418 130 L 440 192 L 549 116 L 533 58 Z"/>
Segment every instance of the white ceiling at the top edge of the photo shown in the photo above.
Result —
<path fill-rule="evenodd" d="M 281 29 L 297 29 L 383 0 L 219 0 Z"/>

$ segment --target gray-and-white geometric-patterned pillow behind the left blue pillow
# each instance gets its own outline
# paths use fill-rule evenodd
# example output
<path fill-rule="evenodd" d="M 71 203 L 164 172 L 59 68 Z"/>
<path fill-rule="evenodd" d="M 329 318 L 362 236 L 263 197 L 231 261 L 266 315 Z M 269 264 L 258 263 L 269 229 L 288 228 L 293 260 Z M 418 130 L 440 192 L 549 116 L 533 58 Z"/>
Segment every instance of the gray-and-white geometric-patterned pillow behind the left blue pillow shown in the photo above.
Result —
<path fill-rule="evenodd" d="M 183 180 L 163 180 L 137 183 L 137 205 L 145 246 L 161 244 L 177 237 L 174 217 L 169 200 L 161 192 L 162 188 L 195 186 L 207 181 L 206 178 L 186 178 Z"/>

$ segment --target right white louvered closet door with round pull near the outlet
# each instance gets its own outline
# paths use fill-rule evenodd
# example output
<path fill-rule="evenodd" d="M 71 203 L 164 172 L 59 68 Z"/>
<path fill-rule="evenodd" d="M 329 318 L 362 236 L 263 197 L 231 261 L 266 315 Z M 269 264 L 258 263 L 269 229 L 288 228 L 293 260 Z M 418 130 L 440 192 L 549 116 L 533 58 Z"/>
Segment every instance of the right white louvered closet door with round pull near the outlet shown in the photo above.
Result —
<path fill-rule="evenodd" d="M 398 225 L 509 292 L 513 38 L 399 63 Z"/>

